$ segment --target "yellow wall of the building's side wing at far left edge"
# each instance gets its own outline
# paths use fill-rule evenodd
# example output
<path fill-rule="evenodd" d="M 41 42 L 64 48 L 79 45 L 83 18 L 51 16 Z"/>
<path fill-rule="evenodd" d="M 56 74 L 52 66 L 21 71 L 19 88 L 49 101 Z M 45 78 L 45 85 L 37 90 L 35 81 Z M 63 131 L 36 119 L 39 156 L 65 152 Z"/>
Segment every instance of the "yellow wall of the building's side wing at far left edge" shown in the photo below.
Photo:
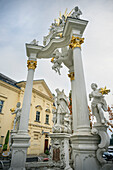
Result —
<path fill-rule="evenodd" d="M 2 113 L 0 113 L 0 137 L 4 136 L 4 140 L 7 131 L 11 130 L 13 126 L 15 116 L 11 114 L 10 109 L 16 106 L 19 92 L 20 89 L 0 81 L 0 100 L 4 101 Z"/>

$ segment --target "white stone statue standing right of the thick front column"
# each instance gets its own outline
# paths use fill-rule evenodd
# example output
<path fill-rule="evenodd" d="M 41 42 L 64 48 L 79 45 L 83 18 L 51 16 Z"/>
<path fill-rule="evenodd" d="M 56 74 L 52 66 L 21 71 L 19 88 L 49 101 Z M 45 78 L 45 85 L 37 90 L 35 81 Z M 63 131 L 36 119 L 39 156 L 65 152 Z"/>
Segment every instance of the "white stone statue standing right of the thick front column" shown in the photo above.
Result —
<path fill-rule="evenodd" d="M 97 89 L 97 84 L 91 84 L 92 92 L 89 94 L 89 99 L 93 98 L 91 102 L 92 114 L 96 117 L 97 123 L 105 124 L 104 111 L 107 111 L 107 103 L 101 93 L 101 88 Z"/>

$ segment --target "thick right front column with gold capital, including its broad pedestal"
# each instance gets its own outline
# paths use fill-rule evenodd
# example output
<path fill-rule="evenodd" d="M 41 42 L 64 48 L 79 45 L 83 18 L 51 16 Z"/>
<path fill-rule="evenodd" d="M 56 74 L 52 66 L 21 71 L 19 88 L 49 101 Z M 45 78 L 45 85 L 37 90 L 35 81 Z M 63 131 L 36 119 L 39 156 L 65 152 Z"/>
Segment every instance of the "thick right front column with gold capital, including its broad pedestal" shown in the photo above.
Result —
<path fill-rule="evenodd" d="M 74 80 L 72 80 L 72 108 L 74 134 L 71 137 L 73 168 L 76 170 L 99 170 L 96 159 L 99 137 L 92 136 L 86 97 L 84 72 L 81 58 L 81 44 L 84 38 L 72 36 L 70 48 L 73 49 Z M 76 119 L 76 120 L 75 120 Z M 74 125 L 76 123 L 76 125 Z"/>

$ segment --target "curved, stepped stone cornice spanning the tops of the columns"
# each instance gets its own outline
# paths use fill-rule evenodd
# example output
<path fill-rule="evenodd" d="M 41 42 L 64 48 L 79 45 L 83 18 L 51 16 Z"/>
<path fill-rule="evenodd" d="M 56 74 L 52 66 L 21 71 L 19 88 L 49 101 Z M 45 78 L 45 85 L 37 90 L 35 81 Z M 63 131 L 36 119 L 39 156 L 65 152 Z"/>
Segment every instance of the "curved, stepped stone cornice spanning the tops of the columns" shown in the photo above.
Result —
<path fill-rule="evenodd" d="M 88 21 L 86 20 L 68 17 L 64 27 L 62 38 L 54 38 L 46 46 L 26 44 L 27 56 L 29 57 L 31 53 L 36 53 L 37 58 L 39 59 L 51 58 L 51 54 L 56 48 L 62 48 L 69 45 L 73 33 L 74 35 L 81 37 L 85 30 L 85 27 L 87 26 L 87 23 Z"/>

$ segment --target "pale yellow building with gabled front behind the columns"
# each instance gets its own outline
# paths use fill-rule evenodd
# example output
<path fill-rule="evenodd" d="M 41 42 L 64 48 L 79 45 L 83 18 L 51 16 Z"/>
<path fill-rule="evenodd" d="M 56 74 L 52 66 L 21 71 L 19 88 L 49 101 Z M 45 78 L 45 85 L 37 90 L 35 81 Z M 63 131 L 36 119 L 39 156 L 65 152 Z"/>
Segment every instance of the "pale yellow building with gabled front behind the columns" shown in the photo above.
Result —
<path fill-rule="evenodd" d="M 10 109 L 16 108 L 24 97 L 25 81 L 16 82 L 0 74 L 0 144 L 4 144 L 7 131 L 13 129 L 14 117 Z M 44 80 L 34 80 L 29 116 L 30 147 L 28 154 L 44 153 L 49 148 L 52 132 L 53 96 Z"/>

